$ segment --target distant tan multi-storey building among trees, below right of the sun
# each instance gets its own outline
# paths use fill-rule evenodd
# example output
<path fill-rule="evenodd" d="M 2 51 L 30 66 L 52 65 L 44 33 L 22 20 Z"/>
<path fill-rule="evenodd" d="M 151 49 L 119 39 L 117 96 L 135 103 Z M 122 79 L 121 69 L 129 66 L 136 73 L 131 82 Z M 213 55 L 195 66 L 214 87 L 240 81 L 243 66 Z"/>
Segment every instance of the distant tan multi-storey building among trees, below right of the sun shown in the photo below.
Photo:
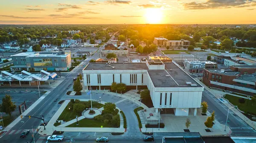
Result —
<path fill-rule="evenodd" d="M 166 48 L 166 46 L 170 46 L 172 48 L 187 48 L 190 45 L 190 41 L 188 40 L 168 40 L 164 37 L 154 38 L 154 44 L 160 48 Z"/>

